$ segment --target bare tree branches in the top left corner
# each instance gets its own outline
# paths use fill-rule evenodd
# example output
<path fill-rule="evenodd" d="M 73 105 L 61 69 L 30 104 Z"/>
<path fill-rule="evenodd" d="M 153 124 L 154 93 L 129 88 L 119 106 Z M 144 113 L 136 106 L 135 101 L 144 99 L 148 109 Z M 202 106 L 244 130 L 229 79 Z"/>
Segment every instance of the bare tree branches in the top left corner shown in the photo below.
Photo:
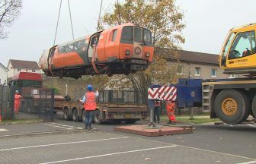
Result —
<path fill-rule="evenodd" d="M 8 32 L 5 31 L 5 27 L 11 26 L 13 21 L 20 14 L 21 7 L 21 0 L 0 1 L 0 39 L 5 39 L 8 36 Z"/>

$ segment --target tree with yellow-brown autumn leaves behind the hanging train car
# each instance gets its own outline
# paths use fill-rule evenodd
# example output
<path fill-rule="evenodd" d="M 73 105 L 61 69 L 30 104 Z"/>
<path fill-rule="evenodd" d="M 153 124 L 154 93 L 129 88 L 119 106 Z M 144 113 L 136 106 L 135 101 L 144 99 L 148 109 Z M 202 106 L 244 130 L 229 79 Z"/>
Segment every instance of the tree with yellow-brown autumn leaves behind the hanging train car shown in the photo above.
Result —
<path fill-rule="evenodd" d="M 123 81 L 130 81 L 131 83 L 126 84 L 142 93 L 144 99 L 147 97 L 149 85 L 170 84 L 176 82 L 179 77 L 177 68 L 169 67 L 166 58 L 178 59 L 177 50 L 181 49 L 180 44 L 184 43 L 184 37 L 181 35 L 185 27 L 183 18 L 184 14 L 175 5 L 175 0 L 125 0 L 123 4 L 115 4 L 113 11 L 102 17 L 106 27 L 133 22 L 152 31 L 155 46 L 152 64 L 144 72 L 120 77 Z M 128 86 L 122 84 L 120 87 Z"/>

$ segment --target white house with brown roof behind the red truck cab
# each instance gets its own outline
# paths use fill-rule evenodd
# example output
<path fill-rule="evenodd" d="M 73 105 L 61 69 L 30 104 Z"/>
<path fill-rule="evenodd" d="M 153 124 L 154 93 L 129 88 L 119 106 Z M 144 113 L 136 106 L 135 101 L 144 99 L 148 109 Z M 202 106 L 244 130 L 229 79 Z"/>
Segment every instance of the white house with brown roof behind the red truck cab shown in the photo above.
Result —
<path fill-rule="evenodd" d="M 17 72 L 35 72 L 40 73 L 40 68 L 37 64 L 37 61 L 23 61 L 23 60 L 14 60 L 10 59 L 8 61 L 8 80 L 13 77 Z"/>

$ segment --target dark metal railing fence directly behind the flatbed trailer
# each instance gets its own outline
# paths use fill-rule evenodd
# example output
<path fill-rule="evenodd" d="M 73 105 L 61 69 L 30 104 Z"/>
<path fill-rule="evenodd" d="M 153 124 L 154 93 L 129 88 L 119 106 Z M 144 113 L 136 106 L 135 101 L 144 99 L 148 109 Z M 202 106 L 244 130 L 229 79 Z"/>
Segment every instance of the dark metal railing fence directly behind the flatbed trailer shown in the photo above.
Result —
<path fill-rule="evenodd" d="M 86 91 L 84 88 L 76 88 L 74 99 L 82 98 Z M 133 90 L 100 90 L 97 101 L 100 103 L 143 103 L 142 94 Z"/>

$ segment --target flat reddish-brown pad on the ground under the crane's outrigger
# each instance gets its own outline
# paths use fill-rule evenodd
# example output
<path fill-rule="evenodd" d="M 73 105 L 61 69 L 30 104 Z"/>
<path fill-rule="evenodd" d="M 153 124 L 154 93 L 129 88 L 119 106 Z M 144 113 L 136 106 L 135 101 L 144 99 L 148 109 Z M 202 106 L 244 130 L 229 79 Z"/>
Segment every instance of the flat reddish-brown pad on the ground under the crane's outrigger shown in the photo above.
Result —
<path fill-rule="evenodd" d="M 187 127 L 162 127 L 162 128 L 146 128 L 146 125 L 131 125 L 131 126 L 119 126 L 115 127 L 114 131 L 120 131 L 130 134 L 138 134 L 148 137 L 158 137 L 163 135 L 174 134 L 190 134 L 194 131 L 194 128 Z"/>

